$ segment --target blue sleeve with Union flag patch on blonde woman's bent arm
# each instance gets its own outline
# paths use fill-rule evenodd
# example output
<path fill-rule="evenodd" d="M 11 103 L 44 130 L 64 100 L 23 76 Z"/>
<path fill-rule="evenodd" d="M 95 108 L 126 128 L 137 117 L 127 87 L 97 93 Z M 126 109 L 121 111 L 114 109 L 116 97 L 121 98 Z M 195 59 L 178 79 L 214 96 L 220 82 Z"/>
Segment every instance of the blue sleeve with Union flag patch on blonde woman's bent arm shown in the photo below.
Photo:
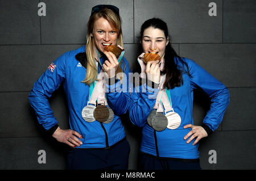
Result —
<path fill-rule="evenodd" d="M 48 102 L 48 98 L 59 88 L 65 77 L 65 54 L 53 61 L 45 73 L 34 83 L 28 100 L 34 108 L 39 124 L 50 131 L 56 128 L 57 120 Z"/>

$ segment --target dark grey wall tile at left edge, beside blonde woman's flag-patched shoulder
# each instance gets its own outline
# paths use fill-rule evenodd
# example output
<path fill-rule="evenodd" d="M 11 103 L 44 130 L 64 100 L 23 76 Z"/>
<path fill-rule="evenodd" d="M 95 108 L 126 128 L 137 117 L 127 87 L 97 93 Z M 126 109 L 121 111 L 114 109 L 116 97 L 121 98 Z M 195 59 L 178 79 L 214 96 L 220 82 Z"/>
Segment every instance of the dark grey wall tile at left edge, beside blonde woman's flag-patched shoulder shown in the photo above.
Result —
<path fill-rule="evenodd" d="M 81 45 L 1 46 L 0 91 L 30 91 L 52 61 L 79 47 Z"/>

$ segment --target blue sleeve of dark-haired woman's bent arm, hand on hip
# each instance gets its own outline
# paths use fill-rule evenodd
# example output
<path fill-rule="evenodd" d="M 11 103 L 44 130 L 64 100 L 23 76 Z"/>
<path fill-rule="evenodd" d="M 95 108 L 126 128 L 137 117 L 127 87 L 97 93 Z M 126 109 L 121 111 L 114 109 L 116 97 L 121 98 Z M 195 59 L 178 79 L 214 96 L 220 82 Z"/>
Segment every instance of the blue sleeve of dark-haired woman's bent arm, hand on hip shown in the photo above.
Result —
<path fill-rule="evenodd" d="M 210 110 L 203 120 L 203 128 L 208 134 L 220 125 L 229 104 L 229 91 L 220 81 L 210 75 L 194 61 L 186 58 L 191 77 L 192 89 L 200 88 L 211 98 Z"/>

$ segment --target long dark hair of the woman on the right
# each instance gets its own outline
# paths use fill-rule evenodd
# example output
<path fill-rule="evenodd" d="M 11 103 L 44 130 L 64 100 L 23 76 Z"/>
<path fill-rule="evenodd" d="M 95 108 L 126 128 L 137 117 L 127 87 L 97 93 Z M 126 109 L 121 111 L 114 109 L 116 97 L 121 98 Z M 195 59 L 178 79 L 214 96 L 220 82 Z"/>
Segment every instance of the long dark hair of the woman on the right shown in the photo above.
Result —
<path fill-rule="evenodd" d="M 183 61 L 183 58 L 181 58 L 172 48 L 171 45 L 171 36 L 168 33 L 168 27 L 167 24 L 159 18 L 152 18 L 146 20 L 141 26 L 141 41 L 143 37 L 144 30 L 148 27 L 158 28 L 164 32 L 164 36 L 166 36 L 166 39 L 169 39 L 169 43 L 166 45 L 166 50 L 164 54 L 164 69 L 161 71 L 161 74 L 166 74 L 166 81 L 164 81 L 164 88 L 167 89 L 174 89 L 174 87 L 179 87 L 183 85 L 183 77 L 182 73 L 185 72 L 189 76 L 189 70 L 188 65 L 186 62 Z M 142 50 L 142 46 L 141 46 Z M 177 61 L 180 61 L 181 64 L 185 65 L 187 70 L 180 70 L 177 68 L 177 65 L 175 64 L 175 57 L 177 58 Z"/>

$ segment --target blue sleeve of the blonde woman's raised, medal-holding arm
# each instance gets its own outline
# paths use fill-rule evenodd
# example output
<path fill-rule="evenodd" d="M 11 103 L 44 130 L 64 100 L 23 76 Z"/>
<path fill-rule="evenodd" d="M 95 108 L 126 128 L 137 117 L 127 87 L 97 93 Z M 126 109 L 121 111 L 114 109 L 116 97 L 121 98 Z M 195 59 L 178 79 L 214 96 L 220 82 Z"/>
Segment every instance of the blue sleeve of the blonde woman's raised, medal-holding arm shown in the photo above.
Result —
<path fill-rule="evenodd" d="M 106 81 L 106 98 L 115 115 L 126 113 L 130 100 L 128 86 L 130 68 L 125 58 L 122 60 L 121 68 L 124 73 L 122 82 L 119 79 Z M 110 82 L 114 82 L 114 84 L 111 84 Z"/>

